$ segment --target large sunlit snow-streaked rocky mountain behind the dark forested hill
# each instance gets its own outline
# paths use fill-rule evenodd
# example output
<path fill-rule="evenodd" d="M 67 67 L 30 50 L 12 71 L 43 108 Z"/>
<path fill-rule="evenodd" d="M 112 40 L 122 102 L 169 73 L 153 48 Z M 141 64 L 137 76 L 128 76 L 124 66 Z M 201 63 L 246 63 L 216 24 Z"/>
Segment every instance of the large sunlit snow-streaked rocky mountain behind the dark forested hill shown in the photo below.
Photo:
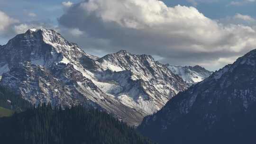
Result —
<path fill-rule="evenodd" d="M 0 47 L 0 85 L 32 104 L 101 108 L 138 125 L 187 84 L 149 55 L 87 54 L 54 30 L 29 29 Z"/>

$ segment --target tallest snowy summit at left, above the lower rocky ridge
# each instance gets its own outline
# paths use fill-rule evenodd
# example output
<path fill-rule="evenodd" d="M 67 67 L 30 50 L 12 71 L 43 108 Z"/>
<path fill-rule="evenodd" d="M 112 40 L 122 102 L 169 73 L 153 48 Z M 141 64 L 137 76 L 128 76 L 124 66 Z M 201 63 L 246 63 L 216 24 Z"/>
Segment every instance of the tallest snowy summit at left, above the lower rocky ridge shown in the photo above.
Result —
<path fill-rule="evenodd" d="M 84 55 L 90 56 L 55 30 L 36 28 L 12 38 L 0 54 L 3 55 L 0 60 L 9 63 L 9 66 L 29 61 L 46 67 L 55 63 L 76 62 Z"/>

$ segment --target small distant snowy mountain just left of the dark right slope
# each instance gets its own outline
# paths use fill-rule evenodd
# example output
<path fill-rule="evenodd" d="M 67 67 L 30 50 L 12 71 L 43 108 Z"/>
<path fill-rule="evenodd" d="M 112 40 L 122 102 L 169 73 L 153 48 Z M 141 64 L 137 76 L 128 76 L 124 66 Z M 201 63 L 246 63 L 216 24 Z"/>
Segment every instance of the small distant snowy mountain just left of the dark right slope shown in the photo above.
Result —
<path fill-rule="evenodd" d="M 168 65 L 168 68 L 173 73 L 179 75 L 189 85 L 203 81 L 204 79 L 208 78 L 212 74 L 212 72 L 206 70 L 205 68 L 199 65 L 196 65 L 196 66 Z"/>

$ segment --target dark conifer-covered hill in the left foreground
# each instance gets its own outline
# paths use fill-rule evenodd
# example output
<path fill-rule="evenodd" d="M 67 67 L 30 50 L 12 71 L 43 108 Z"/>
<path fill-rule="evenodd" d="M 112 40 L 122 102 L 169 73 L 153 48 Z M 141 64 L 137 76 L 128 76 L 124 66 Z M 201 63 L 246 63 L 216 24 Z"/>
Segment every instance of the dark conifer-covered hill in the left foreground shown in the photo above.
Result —
<path fill-rule="evenodd" d="M 0 118 L 1 144 L 153 144 L 125 123 L 97 110 L 39 106 Z"/>

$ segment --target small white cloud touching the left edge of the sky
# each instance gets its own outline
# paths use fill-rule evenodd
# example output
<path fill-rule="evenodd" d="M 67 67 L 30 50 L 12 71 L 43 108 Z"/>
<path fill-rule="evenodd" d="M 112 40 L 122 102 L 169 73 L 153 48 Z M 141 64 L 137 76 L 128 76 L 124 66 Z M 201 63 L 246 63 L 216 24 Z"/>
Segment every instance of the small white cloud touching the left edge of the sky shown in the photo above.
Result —
<path fill-rule="evenodd" d="M 0 11 L 0 32 L 5 31 L 12 24 L 18 23 L 18 20 L 10 18 L 4 12 Z"/>

